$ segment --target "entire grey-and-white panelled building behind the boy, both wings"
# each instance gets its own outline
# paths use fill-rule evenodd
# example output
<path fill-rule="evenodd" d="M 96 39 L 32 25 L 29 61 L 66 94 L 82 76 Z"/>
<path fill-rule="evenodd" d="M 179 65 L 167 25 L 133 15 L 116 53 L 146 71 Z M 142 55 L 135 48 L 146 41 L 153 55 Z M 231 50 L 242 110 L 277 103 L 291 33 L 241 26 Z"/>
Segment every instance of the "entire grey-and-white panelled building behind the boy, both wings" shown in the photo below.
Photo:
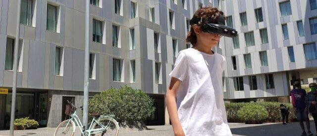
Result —
<path fill-rule="evenodd" d="M 82 105 L 85 0 L 21 0 L 15 118 L 55 127 L 66 100 Z M 90 0 L 89 95 L 125 84 L 155 99 L 150 125 L 169 123 L 168 74 L 202 6 L 238 31 L 213 48 L 226 57 L 228 102 L 289 102 L 291 81 L 317 80 L 316 0 Z M 0 129 L 10 119 L 17 0 L 0 1 Z"/>

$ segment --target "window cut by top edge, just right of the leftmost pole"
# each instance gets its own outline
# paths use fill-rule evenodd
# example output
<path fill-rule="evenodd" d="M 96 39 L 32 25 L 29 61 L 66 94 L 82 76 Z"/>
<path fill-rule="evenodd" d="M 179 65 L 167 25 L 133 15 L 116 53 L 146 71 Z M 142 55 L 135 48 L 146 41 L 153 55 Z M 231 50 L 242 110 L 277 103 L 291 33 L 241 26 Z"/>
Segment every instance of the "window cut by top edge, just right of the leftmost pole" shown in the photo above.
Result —
<path fill-rule="evenodd" d="M 21 0 L 20 23 L 32 26 L 33 0 Z"/>

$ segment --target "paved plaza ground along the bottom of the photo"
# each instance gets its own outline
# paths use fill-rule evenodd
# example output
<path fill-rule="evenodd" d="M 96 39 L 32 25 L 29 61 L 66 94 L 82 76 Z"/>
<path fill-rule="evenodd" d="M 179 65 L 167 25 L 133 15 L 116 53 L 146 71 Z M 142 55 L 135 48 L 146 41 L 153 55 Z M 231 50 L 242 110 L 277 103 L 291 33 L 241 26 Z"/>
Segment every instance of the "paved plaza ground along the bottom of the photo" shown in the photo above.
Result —
<path fill-rule="evenodd" d="M 246 125 L 243 123 L 229 123 L 233 136 L 300 136 L 298 122 L 287 125 L 281 123 L 264 123 L 261 125 Z M 120 129 L 119 136 L 173 136 L 171 126 L 148 126 L 149 130 L 138 131 Z M 314 122 L 311 121 L 311 131 L 316 135 Z M 54 128 L 40 128 L 37 130 L 14 131 L 14 136 L 52 136 Z M 6 136 L 9 131 L 0 131 L 0 136 Z M 80 136 L 76 134 L 75 136 Z"/>

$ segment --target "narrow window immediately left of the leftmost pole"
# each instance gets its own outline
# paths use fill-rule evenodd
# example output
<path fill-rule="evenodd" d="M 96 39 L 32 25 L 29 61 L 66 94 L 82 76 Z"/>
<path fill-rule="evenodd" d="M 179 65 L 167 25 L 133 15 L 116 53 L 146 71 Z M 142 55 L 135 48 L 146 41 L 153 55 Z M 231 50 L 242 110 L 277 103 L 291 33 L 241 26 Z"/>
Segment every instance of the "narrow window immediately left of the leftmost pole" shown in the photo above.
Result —
<path fill-rule="evenodd" d="M 7 38 L 5 46 L 5 70 L 13 70 L 14 39 Z"/>

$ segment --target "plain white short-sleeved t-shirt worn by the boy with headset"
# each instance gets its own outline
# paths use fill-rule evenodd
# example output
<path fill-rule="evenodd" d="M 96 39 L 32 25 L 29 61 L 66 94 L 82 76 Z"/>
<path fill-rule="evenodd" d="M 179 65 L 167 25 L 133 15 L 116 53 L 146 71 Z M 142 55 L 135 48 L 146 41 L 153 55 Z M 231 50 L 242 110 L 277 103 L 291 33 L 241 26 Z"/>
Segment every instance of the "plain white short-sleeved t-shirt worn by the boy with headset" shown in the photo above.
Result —
<path fill-rule="evenodd" d="M 169 76 L 182 81 L 176 96 L 186 136 L 232 136 L 223 102 L 225 58 L 194 48 L 179 52 Z"/>

